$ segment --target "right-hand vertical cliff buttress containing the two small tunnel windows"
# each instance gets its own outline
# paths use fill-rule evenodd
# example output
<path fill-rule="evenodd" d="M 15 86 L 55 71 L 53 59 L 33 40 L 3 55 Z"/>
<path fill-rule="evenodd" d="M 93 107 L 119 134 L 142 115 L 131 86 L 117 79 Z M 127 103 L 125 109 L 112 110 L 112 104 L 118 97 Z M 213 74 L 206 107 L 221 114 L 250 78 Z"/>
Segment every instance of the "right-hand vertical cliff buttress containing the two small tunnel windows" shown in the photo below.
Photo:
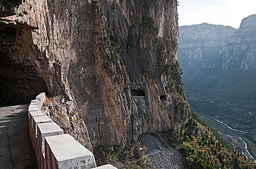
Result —
<path fill-rule="evenodd" d="M 185 107 L 177 101 L 184 92 L 176 64 L 176 0 L 93 4 L 99 104 L 95 116 L 92 106 L 86 113 L 91 141 L 120 144 L 185 124 Z"/>

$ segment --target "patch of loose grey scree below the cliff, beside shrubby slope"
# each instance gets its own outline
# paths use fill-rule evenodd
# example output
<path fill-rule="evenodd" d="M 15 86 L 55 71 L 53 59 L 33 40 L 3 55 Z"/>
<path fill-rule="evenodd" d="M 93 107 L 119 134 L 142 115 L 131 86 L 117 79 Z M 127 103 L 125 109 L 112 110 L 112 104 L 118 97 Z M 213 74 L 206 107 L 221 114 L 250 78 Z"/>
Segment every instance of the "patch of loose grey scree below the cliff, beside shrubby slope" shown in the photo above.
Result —
<path fill-rule="evenodd" d="M 141 141 L 147 147 L 147 155 L 156 169 L 184 169 L 185 162 L 182 155 L 162 137 L 144 134 L 141 136 Z"/>

